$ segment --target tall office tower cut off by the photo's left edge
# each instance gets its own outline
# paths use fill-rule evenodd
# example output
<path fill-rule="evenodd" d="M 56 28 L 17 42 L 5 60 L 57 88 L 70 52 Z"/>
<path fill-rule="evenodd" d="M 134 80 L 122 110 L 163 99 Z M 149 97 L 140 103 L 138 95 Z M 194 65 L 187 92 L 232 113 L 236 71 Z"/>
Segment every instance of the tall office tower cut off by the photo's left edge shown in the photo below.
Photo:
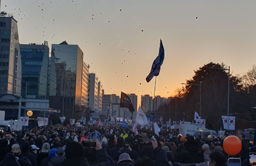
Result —
<path fill-rule="evenodd" d="M 21 54 L 17 21 L 0 17 L 0 96 L 21 96 Z"/>

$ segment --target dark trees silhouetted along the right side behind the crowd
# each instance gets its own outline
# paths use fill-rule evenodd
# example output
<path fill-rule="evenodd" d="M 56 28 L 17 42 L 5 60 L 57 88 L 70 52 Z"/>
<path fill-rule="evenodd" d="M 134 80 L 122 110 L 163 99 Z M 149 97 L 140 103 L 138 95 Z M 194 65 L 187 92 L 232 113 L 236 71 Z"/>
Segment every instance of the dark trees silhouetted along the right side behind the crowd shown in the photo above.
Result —
<path fill-rule="evenodd" d="M 213 69 L 227 69 L 225 64 L 210 62 L 197 71 L 194 76 L 187 80 L 187 84 L 201 82 L 201 117 L 206 119 L 206 127 L 220 130 L 223 128 L 221 116 L 227 116 L 228 104 L 228 71 Z M 186 85 L 175 90 L 174 99 L 177 100 L 177 121 L 192 121 L 194 111 L 200 112 L 200 86 Z M 175 113 L 175 100 L 170 104 L 159 107 L 158 112 Z M 230 73 L 230 102 L 229 114 L 236 117 L 236 129 L 255 128 L 256 112 L 251 107 L 256 106 L 256 66 L 254 65 L 247 73 L 234 76 Z M 182 114 L 184 113 L 184 114 Z M 176 114 L 159 114 L 164 121 L 171 118 L 175 121 Z"/>

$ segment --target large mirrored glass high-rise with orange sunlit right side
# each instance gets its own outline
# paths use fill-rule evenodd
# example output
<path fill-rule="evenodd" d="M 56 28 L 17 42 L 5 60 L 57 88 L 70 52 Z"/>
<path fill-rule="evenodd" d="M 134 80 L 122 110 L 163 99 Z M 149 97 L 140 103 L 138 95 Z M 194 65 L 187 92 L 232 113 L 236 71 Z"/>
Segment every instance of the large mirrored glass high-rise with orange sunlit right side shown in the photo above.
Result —
<path fill-rule="evenodd" d="M 86 93 L 82 80 L 86 79 L 83 74 L 83 51 L 78 45 L 69 45 L 66 41 L 60 44 L 52 44 L 52 51 L 55 55 L 57 95 L 64 93 L 66 104 L 84 104 Z M 69 100 L 69 98 L 71 98 Z"/>

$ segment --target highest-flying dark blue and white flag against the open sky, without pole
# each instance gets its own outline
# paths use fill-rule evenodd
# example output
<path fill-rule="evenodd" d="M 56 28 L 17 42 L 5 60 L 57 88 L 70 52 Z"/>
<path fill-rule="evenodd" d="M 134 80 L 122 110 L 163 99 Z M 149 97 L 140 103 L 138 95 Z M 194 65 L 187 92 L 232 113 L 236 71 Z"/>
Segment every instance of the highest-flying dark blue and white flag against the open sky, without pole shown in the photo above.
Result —
<path fill-rule="evenodd" d="M 158 54 L 158 56 L 156 57 L 155 61 L 152 64 L 151 71 L 150 71 L 149 75 L 146 78 L 147 82 L 152 80 L 152 78 L 154 76 L 159 75 L 160 68 L 161 68 L 161 65 L 163 64 L 163 62 L 164 62 L 164 46 L 163 46 L 162 40 L 160 39 L 159 54 Z"/>

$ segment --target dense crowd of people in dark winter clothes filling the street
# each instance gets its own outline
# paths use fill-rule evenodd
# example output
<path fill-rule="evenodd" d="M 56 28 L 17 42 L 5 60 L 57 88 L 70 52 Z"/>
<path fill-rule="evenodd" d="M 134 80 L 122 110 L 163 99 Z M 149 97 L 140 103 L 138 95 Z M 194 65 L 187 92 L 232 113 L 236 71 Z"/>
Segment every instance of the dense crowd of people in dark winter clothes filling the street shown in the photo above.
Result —
<path fill-rule="evenodd" d="M 81 138 L 99 138 L 85 144 Z M 228 156 L 221 137 L 193 137 L 173 130 L 154 132 L 121 126 L 40 127 L 0 132 L 0 166 L 225 166 L 229 157 L 249 165 L 256 147 L 237 137 L 242 150 Z"/>

